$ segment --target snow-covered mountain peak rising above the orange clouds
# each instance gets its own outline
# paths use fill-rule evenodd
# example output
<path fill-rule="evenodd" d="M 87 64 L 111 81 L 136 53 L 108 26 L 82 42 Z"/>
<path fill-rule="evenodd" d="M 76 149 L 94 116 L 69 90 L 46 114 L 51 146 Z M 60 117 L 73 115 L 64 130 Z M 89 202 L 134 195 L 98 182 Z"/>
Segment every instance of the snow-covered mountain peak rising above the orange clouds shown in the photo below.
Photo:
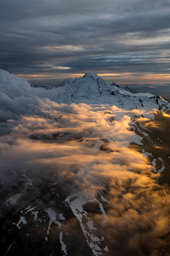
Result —
<path fill-rule="evenodd" d="M 54 91 L 54 90 L 53 90 Z M 55 102 L 71 104 L 110 104 L 118 108 L 159 108 L 166 110 L 170 104 L 161 96 L 150 93 L 131 93 L 117 84 L 109 84 L 95 73 L 86 73 L 80 79 L 67 79 L 49 96 Z"/>

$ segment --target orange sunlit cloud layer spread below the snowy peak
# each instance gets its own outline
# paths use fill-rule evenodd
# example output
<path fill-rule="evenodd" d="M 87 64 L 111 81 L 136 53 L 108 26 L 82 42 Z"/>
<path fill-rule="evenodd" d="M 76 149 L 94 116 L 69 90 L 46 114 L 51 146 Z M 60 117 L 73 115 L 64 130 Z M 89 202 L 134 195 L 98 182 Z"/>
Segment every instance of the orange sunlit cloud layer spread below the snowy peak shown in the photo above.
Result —
<path fill-rule="evenodd" d="M 158 232 L 166 234 L 167 196 L 152 190 L 156 185 L 155 174 L 149 171 L 150 163 L 145 155 L 128 147 L 131 142 L 141 145 L 142 137 L 127 128 L 130 116 L 143 114 L 144 110 L 127 111 L 104 104 L 101 108 L 83 103 L 67 105 L 50 100 L 40 100 L 39 104 L 41 115 L 22 115 L 20 123 L 10 120 L 13 130 L 0 141 L 0 163 L 5 171 L 9 170 L 5 175 L 9 173 L 11 179 L 23 179 L 26 176 L 13 177 L 11 170 L 24 168 L 32 170 L 32 176 L 35 173 L 35 183 L 44 184 L 47 177 L 57 177 L 58 185 L 66 187 L 69 196 L 77 193 L 75 198 L 82 203 L 85 197 L 95 205 L 102 192 L 101 199 L 106 204 L 100 209 L 106 209 L 106 214 L 89 212 L 87 216 L 94 219 L 95 224 L 99 222 L 101 229 L 107 218 L 104 230 L 110 230 L 114 241 L 117 241 L 117 234 L 122 236 L 125 228 L 130 234 L 133 230 L 139 234 L 141 225 L 143 230 L 146 225 L 148 234 L 148 224 L 153 238 Z M 111 116 L 115 118 L 112 122 L 109 121 Z M 58 136 L 53 137 L 54 134 Z M 33 192 L 37 191 L 37 187 L 32 188 L 35 188 Z M 67 200 L 72 200 L 66 196 Z M 83 211 L 83 218 L 84 214 Z M 155 218 L 155 214 L 159 218 Z M 86 230 L 88 225 L 82 224 Z M 77 224 L 73 227 L 76 229 Z M 59 227 L 59 231 L 62 229 Z"/>

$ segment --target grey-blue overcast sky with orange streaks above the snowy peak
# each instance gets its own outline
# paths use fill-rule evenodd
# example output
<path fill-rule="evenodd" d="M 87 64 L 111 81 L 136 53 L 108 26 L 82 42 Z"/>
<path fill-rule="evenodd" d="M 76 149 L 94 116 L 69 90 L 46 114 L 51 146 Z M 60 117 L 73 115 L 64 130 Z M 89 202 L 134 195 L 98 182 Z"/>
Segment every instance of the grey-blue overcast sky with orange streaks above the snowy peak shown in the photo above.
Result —
<path fill-rule="evenodd" d="M 169 83 L 169 0 L 2 0 L 0 24 L 0 68 L 31 84 Z"/>

